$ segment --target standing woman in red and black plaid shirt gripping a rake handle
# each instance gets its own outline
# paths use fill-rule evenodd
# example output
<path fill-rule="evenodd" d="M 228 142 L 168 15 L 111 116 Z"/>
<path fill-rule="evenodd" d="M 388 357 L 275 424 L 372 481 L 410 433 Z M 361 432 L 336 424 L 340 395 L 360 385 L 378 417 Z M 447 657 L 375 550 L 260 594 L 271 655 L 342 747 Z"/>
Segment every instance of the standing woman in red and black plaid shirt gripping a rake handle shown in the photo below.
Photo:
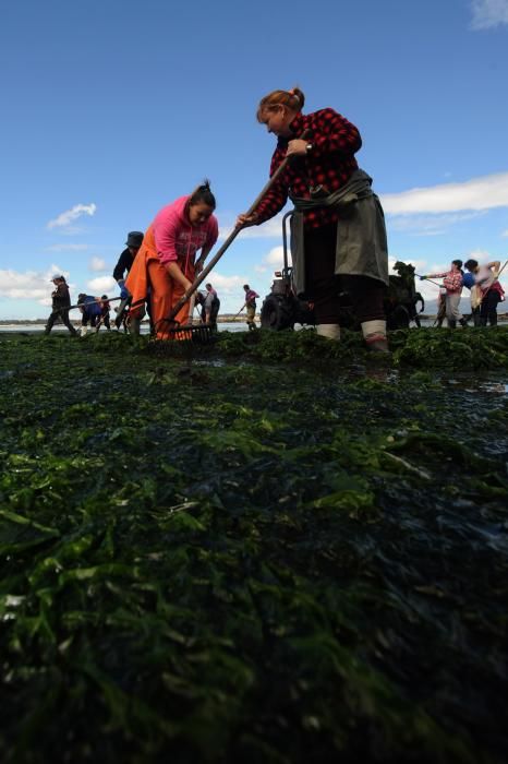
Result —
<path fill-rule="evenodd" d="M 317 333 L 340 337 L 339 293 L 347 291 L 367 346 L 387 351 L 383 308 L 388 284 L 388 253 L 383 210 L 354 154 L 360 133 L 344 117 L 326 108 L 303 115 L 299 88 L 265 96 L 257 120 L 278 141 L 270 176 L 286 156 L 292 160 L 253 215 L 238 226 L 261 225 L 277 215 L 288 196 L 294 204 L 291 256 L 299 297 L 314 303 Z"/>

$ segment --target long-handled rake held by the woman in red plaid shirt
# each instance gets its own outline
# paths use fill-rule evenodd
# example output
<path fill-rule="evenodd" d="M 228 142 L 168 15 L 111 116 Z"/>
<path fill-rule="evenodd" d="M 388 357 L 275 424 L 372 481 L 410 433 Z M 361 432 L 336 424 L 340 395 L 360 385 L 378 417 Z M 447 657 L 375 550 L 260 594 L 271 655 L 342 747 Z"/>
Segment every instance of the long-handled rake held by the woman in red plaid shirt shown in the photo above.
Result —
<path fill-rule="evenodd" d="M 302 140 L 307 139 L 310 135 L 310 131 L 305 130 L 303 134 L 300 136 Z M 268 193 L 268 191 L 275 186 L 275 183 L 278 181 L 282 172 L 286 170 L 289 162 L 294 155 L 287 156 L 279 165 L 279 167 L 276 169 L 271 178 L 267 181 L 263 190 L 258 193 L 254 202 L 251 204 L 249 207 L 247 212 L 245 215 L 249 217 L 252 215 L 255 211 L 258 204 L 262 202 L 264 196 Z M 218 249 L 216 254 L 211 258 L 209 263 L 203 268 L 203 271 L 199 273 L 197 278 L 191 284 L 189 289 L 182 295 L 182 297 L 178 300 L 178 302 L 173 306 L 171 312 L 166 319 L 162 319 L 162 321 L 168 324 L 168 334 L 171 336 L 172 339 L 191 339 L 192 342 L 197 342 L 197 343 L 208 343 L 214 339 L 214 334 L 216 330 L 213 326 L 207 326 L 206 324 L 201 324 L 201 325 L 193 325 L 193 324 L 185 324 L 182 325 L 178 321 L 176 321 L 174 317 L 178 314 L 179 310 L 183 308 L 185 302 L 194 295 L 194 293 L 198 289 L 199 285 L 203 284 L 209 272 L 217 265 L 219 262 L 220 258 L 223 255 L 223 253 L 231 247 L 233 243 L 234 239 L 237 236 L 240 234 L 242 228 L 245 228 L 246 226 L 235 226 L 231 234 L 228 236 L 223 244 Z"/>

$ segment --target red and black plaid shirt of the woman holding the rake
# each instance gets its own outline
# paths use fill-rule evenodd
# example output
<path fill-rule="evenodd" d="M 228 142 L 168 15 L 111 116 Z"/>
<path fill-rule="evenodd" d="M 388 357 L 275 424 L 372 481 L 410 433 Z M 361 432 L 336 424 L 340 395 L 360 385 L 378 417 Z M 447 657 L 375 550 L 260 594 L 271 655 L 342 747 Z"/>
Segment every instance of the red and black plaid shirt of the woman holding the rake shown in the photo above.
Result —
<path fill-rule="evenodd" d="M 300 138 L 305 130 L 305 138 L 313 148 L 306 156 L 295 156 L 282 172 L 275 187 L 266 194 L 256 212 L 258 223 L 277 215 L 288 200 L 288 194 L 310 199 L 310 189 L 322 186 L 325 191 L 337 191 L 346 186 L 358 169 L 354 154 L 362 145 L 362 139 L 354 124 L 334 109 L 320 109 L 310 115 L 299 112 L 289 126 L 293 135 L 279 138 L 277 148 L 271 157 L 270 177 L 286 156 L 288 142 Z M 317 208 L 305 213 L 305 226 L 319 228 L 335 223 L 338 214 L 332 208 Z"/>

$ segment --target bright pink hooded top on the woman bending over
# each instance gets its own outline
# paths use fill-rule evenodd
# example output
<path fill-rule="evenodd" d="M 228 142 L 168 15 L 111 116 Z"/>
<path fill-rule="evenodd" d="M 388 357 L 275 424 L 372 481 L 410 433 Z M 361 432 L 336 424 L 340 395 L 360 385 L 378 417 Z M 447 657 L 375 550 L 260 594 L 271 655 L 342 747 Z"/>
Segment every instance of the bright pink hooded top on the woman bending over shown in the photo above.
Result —
<path fill-rule="evenodd" d="M 202 226 L 192 227 L 185 215 L 190 196 L 180 196 L 166 205 L 155 216 L 153 230 L 157 256 L 162 264 L 178 261 L 182 271 L 194 264 L 196 251 L 203 247 L 211 249 L 217 241 L 219 227 L 215 215 Z"/>

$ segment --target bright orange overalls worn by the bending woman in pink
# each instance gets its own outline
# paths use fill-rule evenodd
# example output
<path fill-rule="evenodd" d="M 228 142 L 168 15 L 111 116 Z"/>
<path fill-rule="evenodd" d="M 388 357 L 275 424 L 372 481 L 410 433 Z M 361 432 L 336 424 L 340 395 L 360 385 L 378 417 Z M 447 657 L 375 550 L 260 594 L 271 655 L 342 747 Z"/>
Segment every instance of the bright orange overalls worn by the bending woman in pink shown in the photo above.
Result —
<path fill-rule="evenodd" d="M 188 260 L 185 263 L 185 276 L 190 282 L 195 278 L 194 262 Z M 155 246 L 154 227 L 149 226 L 145 234 L 143 243 L 132 264 L 129 276 L 125 279 L 125 287 L 132 295 L 131 315 L 136 318 L 141 312 L 140 306 L 149 299 L 152 305 L 152 322 L 154 324 L 157 339 L 173 339 L 174 335 L 169 330 L 174 329 L 174 323 L 166 319 L 173 306 L 183 296 L 184 288 L 176 282 L 166 267 L 160 263 Z M 148 295 L 148 287 L 150 294 Z M 188 323 L 189 302 L 179 310 L 174 317 L 181 325 Z"/>

